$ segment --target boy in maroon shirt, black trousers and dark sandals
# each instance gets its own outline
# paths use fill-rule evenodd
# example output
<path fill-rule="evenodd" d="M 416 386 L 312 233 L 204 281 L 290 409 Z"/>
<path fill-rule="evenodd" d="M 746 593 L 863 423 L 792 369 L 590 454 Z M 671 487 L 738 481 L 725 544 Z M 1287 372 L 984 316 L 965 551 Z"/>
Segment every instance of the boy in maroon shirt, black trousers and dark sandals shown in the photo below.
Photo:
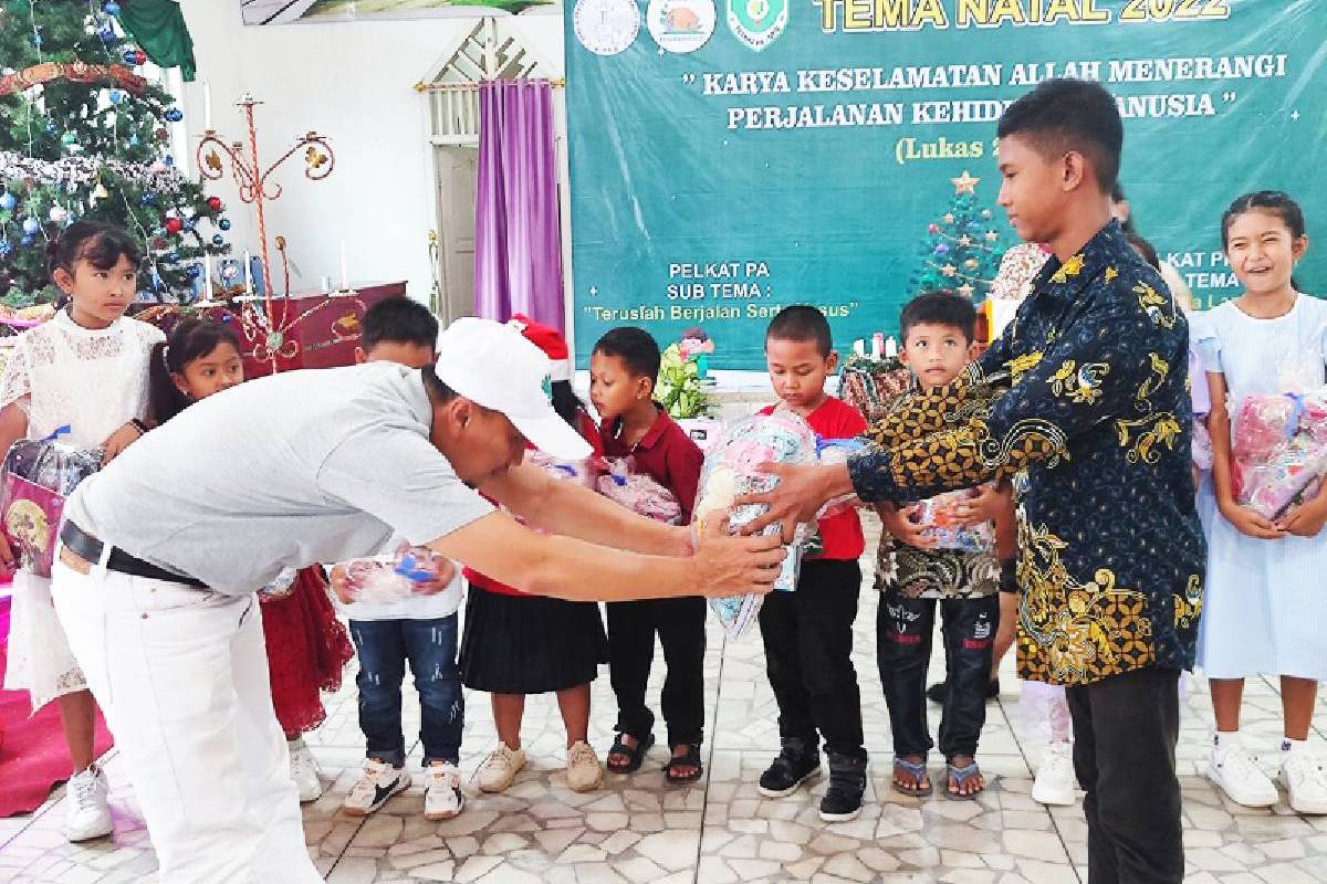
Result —
<path fill-rule="evenodd" d="M 600 415 L 604 455 L 630 456 L 637 472 L 677 496 L 683 522 L 691 521 L 701 481 L 701 449 L 654 404 L 660 347 L 640 329 L 613 329 L 591 355 L 591 402 Z M 701 778 L 705 729 L 705 611 L 701 596 L 614 602 L 608 608 L 609 676 L 617 694 L 617 740 L 608 769 L 629 774 L 654 744 L 654 713 L 645 684 L 654 663 L 654 634 L 664 645 L 667 676 L 661 705 L 671 750 L 664 775 L 670 783 Z"/>

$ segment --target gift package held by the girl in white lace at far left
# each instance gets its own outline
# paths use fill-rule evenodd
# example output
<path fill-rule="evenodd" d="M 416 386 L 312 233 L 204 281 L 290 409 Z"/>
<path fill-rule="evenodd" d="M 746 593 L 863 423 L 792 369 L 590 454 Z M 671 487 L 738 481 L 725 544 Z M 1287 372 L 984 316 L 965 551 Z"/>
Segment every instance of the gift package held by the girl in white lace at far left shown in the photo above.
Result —
<path fill-rule="evenodd" d="M 0 530 L 19 566 L 38 577 L 50 577 L 65 498 L 101 469 L 101 449 L 65 445 L 60 437 L 68 432 L 61 427 L 46 439 L 16 441 L 4 460 Z"/>

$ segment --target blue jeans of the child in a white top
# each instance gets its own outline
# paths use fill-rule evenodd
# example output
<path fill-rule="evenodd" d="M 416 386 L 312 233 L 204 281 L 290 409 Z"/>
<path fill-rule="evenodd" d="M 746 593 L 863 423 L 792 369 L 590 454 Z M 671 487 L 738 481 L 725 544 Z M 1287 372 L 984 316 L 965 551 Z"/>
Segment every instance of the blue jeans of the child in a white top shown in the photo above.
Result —
<path fill-rule="evenodd" d="M 456 671 L 456 615 L 435 620 L 350 620 L 350 637 L 360 652 L 360 729 L 368 757 L 401 767 L 406 744 L 401 736 L 401 681 L 406 660 L 419 692 L 419 740 L 423 763 L 456 763 L 466 700 Z"/>

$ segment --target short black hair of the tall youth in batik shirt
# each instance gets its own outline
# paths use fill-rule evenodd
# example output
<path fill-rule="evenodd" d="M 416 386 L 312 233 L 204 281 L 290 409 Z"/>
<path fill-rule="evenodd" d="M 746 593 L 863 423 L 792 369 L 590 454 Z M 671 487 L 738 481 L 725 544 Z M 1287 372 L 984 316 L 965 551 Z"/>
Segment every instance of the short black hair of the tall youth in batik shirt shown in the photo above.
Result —
<path fill-rule="evenodd" d="M 1124 123 L 1115 98 L 1096 82 L 1042 82 L 1005 110 L 995 134 L 1023 135 L 1047 156 L 1083 154 L 1104 193 L 1115 188 L 1120 175 Z"/>

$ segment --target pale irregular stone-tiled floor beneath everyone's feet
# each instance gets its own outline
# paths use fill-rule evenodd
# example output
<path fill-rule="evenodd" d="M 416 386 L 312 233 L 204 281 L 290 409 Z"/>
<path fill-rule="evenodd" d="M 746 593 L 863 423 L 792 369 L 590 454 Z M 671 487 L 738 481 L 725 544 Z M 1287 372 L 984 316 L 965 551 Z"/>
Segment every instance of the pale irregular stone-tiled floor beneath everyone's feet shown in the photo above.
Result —
<path fill-rule="evenodd" d="M 991 789 L 977 802 L 904 798 L 889 789 L 889 721 L 874 663 L 876 595 L 863 592 L 856 655 L 863 685 L 872 779 L 867 807 L 852 823 L 816 816 L 824 785 L 783 801 L 762 799 L 755 781 L 778 747 L 775 706 L 764 680 L 760 640 L 722 640 L 711 628 L 707 778 L 670 789 L 660 767 L 666 750 L 629 778 L 577 795 L 561 771 L 563 734 L 552 697 L 531 698 L 525 747 L 531 765 L 504 795 L 470 790 L 466 812 L 447 823 L 422 816 L 418 786 L 369 819 L 337 812 L 362 757 L 353 679 L 329 698 L 329 720 L 309 737 L 328 794 L 305 808 L 309 850 L 330 884 L 373 881 L 482 881 L 483 884 L 725 884 L 727 881 L 941 881 L 946 884 L 1054 884 L 1085 881 L 1082 807 L 1046 810 L 1028 798 L 1031 770 L 1044 737 L 1020 714 L 1006 661 L 1005 692 L 989 706 L 979 759 Z M 662 664 L 656 668 L 654 691 Z M 409 691 L 407 691 L 409 696 Z M 656 694 L 657 696 L 657 694 Z M 495 741 L 483 694 L 468 694 L 464 770 Z M 1315 718 L 1327 732 L 1327 698 Z M 934 710 L 934 706 L 932 706 Z M 418 721 L 415 709 L 409 710 Z M 594 683 L 591 740 L 602 753 L 614 718 L 606 673 Z M 1300 818 L 1285 806 L 1249 811 L 1230 804 L 1201 777 L 1210 702 L 1192 684 L 1180 745 L 1188 831 L 1189 884 L 1310 884 L 1327 881 L 1327 818 Z M 933 726 L 936 725 L 933 720 Z M 1279 730 L 1275 684 L 1250 683 L 1246 730 L 1263 758 Z M 57 793 L 33 816 L 0 820 L 0 881 L 125 884 L 153 880 L 155 868 L 133 791 L 114 755 L 107 761 L 117 827 L 113 839 L 85 847 L 60 835 Z"/>

